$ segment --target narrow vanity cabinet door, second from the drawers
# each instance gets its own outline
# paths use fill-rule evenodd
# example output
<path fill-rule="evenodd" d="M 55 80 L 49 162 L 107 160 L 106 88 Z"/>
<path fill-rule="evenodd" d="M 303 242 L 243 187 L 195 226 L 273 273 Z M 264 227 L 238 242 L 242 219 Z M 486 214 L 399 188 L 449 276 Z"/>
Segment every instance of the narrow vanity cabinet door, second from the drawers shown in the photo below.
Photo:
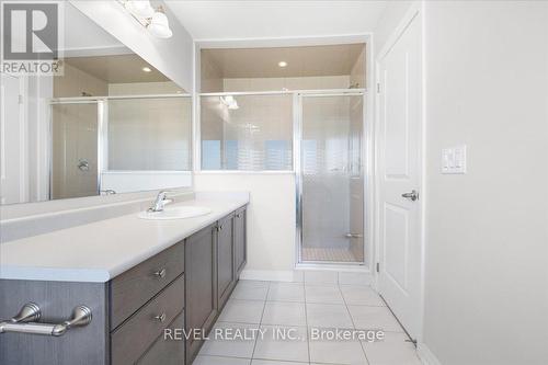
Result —
<path fill-rule="evenodd" d="M 227 301 L 236 283 L 232 225 L 233 215 L 220 219 L 217 224 L 217 293 L 219 308 L 222 308 Z"/>

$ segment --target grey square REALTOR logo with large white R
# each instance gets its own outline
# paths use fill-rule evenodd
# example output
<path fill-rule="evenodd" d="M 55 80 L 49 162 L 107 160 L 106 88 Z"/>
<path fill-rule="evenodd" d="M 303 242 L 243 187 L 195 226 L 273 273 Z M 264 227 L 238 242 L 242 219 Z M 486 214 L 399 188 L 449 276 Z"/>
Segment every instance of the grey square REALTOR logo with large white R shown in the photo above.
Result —
<path fill-rule="evenodd" d="M 59 8 L 2 1 L 2 72 L 59 75 Z"/>

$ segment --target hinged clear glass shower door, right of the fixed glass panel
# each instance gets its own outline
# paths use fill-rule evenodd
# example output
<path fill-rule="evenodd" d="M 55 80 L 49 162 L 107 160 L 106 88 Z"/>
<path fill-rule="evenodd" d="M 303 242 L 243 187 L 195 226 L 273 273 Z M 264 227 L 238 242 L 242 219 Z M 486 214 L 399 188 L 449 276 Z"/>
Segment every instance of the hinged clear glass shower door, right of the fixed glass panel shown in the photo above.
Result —
<path fill-rule="evenodd" d="M 363 101 L 302 94 L 301 262 L 364 263 Z"/>

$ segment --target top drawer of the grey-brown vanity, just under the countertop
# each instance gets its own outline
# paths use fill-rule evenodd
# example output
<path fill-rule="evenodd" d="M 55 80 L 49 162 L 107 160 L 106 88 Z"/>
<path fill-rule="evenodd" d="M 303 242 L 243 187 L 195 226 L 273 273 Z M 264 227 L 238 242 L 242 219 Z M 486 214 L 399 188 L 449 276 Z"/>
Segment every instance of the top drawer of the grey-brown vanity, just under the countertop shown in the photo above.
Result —
<path fill-rule="evenodd" d="M 184 271 L 184 243 L 180 242 L 111 282 L 111 331 L 142 307 Z"/>

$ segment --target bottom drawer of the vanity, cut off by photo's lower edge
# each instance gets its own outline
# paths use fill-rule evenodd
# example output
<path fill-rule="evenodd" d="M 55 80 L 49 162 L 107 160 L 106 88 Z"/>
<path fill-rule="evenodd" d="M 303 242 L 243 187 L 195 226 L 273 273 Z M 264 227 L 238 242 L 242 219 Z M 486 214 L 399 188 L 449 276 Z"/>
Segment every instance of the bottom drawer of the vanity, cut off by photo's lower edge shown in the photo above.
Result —
<path fill-rule="evenodd" d="M 184 364 L 184 341 L 181 331 L 184 329 L 184 311 L 168 327 L 172 338 L 164 339 L 163 331 L 147 353 L 139 358 L 138 365 L 182 365 Z M 175 337 L 178 331 L 179 339 Z"/>

